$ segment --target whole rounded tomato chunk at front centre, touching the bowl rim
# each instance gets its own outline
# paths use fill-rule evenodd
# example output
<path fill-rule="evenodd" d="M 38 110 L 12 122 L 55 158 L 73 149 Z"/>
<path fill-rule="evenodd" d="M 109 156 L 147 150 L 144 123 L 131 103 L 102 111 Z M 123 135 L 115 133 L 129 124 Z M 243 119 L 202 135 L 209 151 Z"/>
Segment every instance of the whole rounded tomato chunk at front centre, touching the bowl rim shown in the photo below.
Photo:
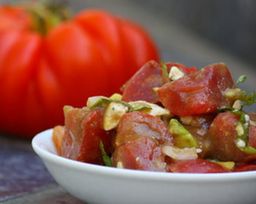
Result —
<path fill-rule="evenodd" d="M 114 166 L 164 172 L 163 143 L 173 144 L 173 137 L 161 119 L 141 112 L 124 114 L 114 138 Z"/>

